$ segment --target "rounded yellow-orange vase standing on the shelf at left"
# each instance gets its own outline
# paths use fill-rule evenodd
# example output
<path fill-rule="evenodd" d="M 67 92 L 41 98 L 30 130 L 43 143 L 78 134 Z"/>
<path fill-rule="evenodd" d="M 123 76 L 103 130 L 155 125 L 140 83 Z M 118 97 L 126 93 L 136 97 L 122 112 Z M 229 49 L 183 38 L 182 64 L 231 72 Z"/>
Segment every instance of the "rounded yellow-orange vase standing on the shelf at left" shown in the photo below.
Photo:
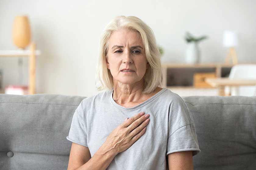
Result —
<path fill-rule="evenodd" d="M 26 15 L 16 16 L 12 26 L 12 39 L 16 46 L 25 49 L 30 43 L 30 25 Z"/>

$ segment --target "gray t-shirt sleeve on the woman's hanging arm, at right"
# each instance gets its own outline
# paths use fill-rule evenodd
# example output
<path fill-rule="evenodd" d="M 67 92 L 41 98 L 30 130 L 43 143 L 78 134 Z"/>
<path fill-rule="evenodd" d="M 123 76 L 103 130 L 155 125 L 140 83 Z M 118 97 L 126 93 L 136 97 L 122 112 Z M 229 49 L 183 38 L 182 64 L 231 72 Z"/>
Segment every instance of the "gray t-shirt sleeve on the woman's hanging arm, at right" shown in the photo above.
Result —
<path fill-rule="evenodd" d="M 193 156 L 201 152 L 193 117 L 178 94 L 169 107 L 168 126 L 166 156 L 180 151 L 192 151 Z"/>

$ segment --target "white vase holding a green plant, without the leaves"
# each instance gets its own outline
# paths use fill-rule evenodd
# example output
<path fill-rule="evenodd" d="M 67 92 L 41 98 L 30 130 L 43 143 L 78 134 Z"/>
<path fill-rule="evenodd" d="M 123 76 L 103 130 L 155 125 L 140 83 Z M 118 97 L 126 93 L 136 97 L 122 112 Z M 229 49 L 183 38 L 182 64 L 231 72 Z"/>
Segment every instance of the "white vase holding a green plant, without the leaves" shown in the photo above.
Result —
<path fill-rule="evenodd" d="M 197 42 L 189 42 L 185 56 L 186 63 L 196 64 L 200 62 L 200 50 Z"/>

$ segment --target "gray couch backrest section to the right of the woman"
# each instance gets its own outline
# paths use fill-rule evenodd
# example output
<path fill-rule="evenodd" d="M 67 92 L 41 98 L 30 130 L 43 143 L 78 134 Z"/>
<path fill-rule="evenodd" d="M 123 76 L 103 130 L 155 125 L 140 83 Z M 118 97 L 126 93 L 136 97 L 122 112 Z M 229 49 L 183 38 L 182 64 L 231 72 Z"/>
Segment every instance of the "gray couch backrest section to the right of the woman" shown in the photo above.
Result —
<path fill-rule="evenodd" d="M 256 168 L 256 97 L 188 96 L 201 153 L 196 170 Z"/>

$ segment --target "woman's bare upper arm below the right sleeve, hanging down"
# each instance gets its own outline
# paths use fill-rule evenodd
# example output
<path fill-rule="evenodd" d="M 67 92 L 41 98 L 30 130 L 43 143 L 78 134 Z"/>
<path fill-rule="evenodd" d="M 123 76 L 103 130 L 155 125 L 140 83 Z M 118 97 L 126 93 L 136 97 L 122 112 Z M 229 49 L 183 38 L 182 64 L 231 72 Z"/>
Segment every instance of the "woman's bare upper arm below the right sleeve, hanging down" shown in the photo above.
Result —
<path fill-rule="evenodd" d="M 193 170 L 192 151 L 174 152 L 167 156 L 169 170 Z"/>

